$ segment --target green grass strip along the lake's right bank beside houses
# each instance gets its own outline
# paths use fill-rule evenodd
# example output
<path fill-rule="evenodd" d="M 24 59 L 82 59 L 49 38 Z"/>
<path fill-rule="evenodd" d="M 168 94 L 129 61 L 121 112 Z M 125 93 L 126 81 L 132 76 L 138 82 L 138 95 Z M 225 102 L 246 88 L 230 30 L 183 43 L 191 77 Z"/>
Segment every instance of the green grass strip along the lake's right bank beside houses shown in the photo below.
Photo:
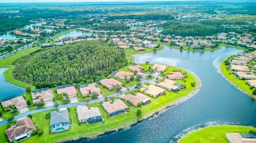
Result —
<path fill-rule="evenodd" d="M 237 87 L 243 89 L 245 92 L 247 92 L 252 98 L 256 99 L 255 95 L 252 95 L 252 90 L 250 89 L 249 86 L 247 86 L 245 83 L 245 80 L 241 80 L 236 78 L 233 74 L 232 71 L 228 70 L 228 66 L 224 64 L 225 60 L 223 60 L 220 64 L 220 69 L 222 74 L 231 82 L 234 83 Z"/>

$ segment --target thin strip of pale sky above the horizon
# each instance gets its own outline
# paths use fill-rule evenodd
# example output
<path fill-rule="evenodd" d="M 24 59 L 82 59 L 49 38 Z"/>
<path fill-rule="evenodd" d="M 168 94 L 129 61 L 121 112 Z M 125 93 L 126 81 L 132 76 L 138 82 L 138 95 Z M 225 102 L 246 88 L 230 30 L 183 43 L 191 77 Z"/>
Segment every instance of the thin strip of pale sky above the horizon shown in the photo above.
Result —
<path fill-rule="evenodd" d="M 0 0 L 0 3 L 35 3 L 35 2 L 140 2 L 159 0 Z M 202 0 L 160 0 L 160 1 L 202 1 Z"/>

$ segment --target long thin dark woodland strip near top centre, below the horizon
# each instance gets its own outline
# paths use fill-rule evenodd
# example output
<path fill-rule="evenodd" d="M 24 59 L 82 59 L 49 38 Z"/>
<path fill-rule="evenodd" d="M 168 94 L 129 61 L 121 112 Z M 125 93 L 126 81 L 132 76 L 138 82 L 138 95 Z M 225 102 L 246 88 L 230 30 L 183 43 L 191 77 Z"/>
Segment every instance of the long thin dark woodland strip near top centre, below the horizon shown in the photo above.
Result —
<path fill-rule="evenodd" d="M 109 16 L 107 20 L 116 19 L 137 19 L 137 20 L 173 20 L 174 17 L 170 14 L 148 13 L 148 14 L 130 14 L 130 15 L 115 15 Z"/>

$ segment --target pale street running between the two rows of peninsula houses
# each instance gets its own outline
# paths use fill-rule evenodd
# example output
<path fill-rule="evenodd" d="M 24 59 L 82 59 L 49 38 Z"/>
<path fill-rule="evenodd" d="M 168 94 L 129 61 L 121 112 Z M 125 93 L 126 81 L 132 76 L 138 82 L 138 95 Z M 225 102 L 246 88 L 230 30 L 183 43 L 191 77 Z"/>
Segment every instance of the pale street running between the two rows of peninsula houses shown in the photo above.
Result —
<path fill-rule="evenodd" d="M 135 89 L 137 85 L 133 85 L 131 87 L 129 87 L 130 91 Z M 127 91 L 127 89 L 125 89 L 123 91 L 123 94 L 125 94 Z M 90 100 L 89 102 L 77 102 L 77 103 L 70 103 L 70 104 L 61 104 L 59 105 L 57 108 L 63 108 L 63 107 L 74 107 L 74 106 L 84 106 L 84 105 L 88 105 L 88 104 L 93 104 L 93 103 L 99 103 L 99 102 L 103 102 L 104 100 L 106 99 L 109 99 L 109 98 L 112 98 L 112 97 L 117 97 L 117 96 L 120 96 L 120 93 L 119 92 L 116 92 L 115 94 L 111 94 L 109 96 L 106 96 L 106 97 L 101 97 L 101 98 L 98 98 L 98 99 L 94 99 L 94 100 Z M 39 113 L 39 112 L 43 112 L 43 111 L 49 111 L 49 110 L 53 110 L 53 109 L 57 109 L 56 107 L 54 106 L 48 106 L 48 107 L 43 107 L 43 108 L 37 108 L 36 110 L 30 110 L 30 111 L 27 111 L 27 112 L 24 112 L 24 113 L 21 113 L 19 115 L 16 115 L 14 116 L 14 120 L 18 120 L 22 117 L 26 117 L 28 116 L 29 114 L 35 114 L 35 113 Z M 0 122 L 0 126 L 2 125 L 5 125 L 7 124 L 7 120 L 3 120 Z"/>

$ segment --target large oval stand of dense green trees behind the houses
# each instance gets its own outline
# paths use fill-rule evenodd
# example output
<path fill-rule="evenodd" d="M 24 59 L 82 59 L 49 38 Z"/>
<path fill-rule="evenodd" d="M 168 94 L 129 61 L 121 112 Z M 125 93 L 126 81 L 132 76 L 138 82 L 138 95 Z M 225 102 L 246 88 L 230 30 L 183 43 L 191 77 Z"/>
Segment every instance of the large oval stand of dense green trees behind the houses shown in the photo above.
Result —
<path fill-rule="evenodd" d="M 14 62 L 16 79 L 37 88 L 89 83 L 127 65 L 124 51 L 100 41 L 42 49 Z"/>

